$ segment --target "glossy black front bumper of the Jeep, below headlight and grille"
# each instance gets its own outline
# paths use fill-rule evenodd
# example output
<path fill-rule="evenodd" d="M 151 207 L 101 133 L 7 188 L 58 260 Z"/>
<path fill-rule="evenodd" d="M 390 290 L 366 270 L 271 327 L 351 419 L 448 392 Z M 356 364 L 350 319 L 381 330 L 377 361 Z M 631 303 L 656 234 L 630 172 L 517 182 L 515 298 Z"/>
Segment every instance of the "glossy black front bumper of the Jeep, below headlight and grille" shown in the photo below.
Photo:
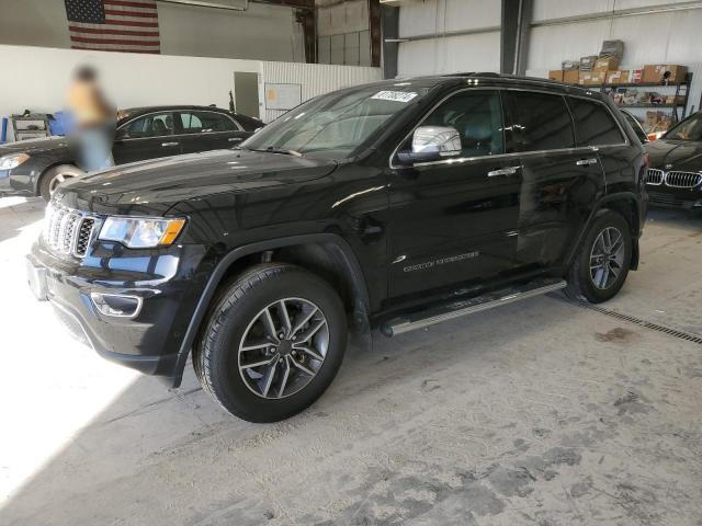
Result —
<path fill-rule="evenodd" d="M 113 258 L 100 258 L 105 250 Z M 57 256 L 39 241 L 27 255 L 27 281 L 70 332 L 102 357 L 172 385 L 180 380 L 181 344 L 202 291 L 193 276 L 204 253 L 199 245 L 135 251 L 101 243 L 78 260 Z M 105 316 L 91 293 L 137 296 L 140 309 L 134 318 Z"/>

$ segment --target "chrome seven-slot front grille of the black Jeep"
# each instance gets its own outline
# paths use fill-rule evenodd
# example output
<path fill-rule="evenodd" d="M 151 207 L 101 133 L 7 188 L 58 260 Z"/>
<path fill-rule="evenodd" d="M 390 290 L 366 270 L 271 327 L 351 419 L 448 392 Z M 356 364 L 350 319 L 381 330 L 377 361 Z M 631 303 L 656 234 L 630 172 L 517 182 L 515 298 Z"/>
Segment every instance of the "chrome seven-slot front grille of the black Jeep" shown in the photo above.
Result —
<path fill-rule="evenodd" d="M 97 219 L 83 211 L 49 203 L 44 219 L 44 241 L 56 252 L 83 258 L 95 225 Z"/>

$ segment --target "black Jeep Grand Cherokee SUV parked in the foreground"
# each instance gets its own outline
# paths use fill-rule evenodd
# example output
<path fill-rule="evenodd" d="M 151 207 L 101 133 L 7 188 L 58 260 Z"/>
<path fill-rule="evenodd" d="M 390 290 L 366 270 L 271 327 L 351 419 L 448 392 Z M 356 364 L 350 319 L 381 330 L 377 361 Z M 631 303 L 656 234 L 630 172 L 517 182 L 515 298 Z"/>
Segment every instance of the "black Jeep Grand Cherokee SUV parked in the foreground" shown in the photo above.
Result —
<path fill-rule="evenodd" d="M 105 358 L 231 413 L 291 416 L 348 323 L 386 335 L 638 262 L 646 158 L 607 99 L 489 73 L 385 81 L 288 112 L 235 150 L 61 185 L 29 276 Z"/>

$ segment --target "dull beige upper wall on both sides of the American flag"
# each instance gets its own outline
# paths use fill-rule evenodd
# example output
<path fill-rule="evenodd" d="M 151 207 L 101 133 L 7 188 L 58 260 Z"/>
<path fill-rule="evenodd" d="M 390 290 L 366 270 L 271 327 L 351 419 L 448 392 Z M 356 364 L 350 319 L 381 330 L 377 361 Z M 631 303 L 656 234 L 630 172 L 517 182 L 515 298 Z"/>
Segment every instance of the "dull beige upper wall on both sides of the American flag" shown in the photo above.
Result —
<path fill-rule="evenodd" d="M 287 7 L 246 12 L 158 3 L 161 54 L 304 61 L 302 28 Z M 0 0 L 0 44 L 69 48 L 64 0 Z"/>

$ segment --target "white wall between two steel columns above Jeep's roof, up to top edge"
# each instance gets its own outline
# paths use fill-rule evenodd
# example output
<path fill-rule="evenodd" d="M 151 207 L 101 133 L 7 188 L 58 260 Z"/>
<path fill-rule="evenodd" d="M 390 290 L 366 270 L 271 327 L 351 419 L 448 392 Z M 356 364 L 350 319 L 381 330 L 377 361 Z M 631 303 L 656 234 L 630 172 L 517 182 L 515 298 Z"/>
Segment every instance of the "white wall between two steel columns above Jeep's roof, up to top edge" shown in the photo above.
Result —
<path fill-rule="evenodd" d="M 444 33 L 499 27 L 497 0 L 403 2 L 399 36 L 435 35 L 399 44 L 398 77 L 457 71 L 499 71 L 500 33 L 444 36 Z"/>

